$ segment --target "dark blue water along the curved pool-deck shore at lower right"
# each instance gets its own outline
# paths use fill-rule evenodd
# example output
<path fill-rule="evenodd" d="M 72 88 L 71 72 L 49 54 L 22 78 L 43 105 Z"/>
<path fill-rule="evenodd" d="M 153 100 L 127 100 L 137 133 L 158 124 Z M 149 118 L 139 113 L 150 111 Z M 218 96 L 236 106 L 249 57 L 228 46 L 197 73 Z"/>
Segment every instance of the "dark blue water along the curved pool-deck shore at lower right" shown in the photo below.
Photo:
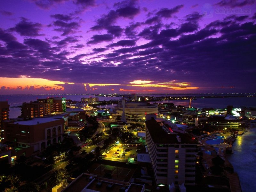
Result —
<path fill-rule="evenodd" d="M 242 191 L 256 191 L 256 128 L 237 136 L 232 151 L 226 157 L 238 173 Z"/>

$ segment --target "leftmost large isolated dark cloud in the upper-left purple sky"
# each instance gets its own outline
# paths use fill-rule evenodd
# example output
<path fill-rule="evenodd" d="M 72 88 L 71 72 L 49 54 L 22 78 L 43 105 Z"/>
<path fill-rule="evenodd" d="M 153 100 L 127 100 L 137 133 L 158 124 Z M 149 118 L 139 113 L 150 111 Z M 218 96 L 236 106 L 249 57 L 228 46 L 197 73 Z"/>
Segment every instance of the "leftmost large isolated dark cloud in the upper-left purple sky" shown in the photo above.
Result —
<path fill-rule="evenodd" d="M 33 23 L 28 22 L 28 19 L 21 18 L 21 21 L 16 24 L 14 28 L 10 28 L 12 31 L 16 31 L 21 36 L 42 36 L 43 34 L 39 34 L 39 31 L 42 30 L 42 24 L 41 23 Z"/>

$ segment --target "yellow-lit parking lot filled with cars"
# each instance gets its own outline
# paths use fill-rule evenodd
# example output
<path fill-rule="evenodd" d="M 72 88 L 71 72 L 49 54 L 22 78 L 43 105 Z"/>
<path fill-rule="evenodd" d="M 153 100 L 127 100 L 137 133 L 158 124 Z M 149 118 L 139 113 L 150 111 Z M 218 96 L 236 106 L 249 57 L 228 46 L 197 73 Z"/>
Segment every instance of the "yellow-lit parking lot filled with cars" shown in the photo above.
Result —
<path fill-rule="evenodd" d="M 111 161 L 127 162 L 129 157 L 136 156 L 137 146 L 135 145 L 117 145 L 116 147 L 109 150 L 109 153 L 104 154 L 102 159 Z M 124 153 L 125 152 L 125 153 Z M 124 153 L 124 156 L 122 155 Z"/>

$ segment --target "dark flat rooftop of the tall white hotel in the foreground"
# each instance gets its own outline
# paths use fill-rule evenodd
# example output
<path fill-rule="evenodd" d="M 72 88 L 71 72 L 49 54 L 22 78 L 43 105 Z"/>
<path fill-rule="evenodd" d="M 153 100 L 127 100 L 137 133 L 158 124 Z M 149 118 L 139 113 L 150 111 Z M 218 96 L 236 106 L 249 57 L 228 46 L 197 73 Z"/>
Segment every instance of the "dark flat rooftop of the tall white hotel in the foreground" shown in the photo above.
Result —
<path fill-rule="evenodd" d="M 168 134 L 155 119 L 146 121 L 146 127 L 155 144 L 197 144 L 188 133 L 183 134 L 173 131 L 173 133 Z M 180 137 L 180 142 L 177 136 Z"/>

